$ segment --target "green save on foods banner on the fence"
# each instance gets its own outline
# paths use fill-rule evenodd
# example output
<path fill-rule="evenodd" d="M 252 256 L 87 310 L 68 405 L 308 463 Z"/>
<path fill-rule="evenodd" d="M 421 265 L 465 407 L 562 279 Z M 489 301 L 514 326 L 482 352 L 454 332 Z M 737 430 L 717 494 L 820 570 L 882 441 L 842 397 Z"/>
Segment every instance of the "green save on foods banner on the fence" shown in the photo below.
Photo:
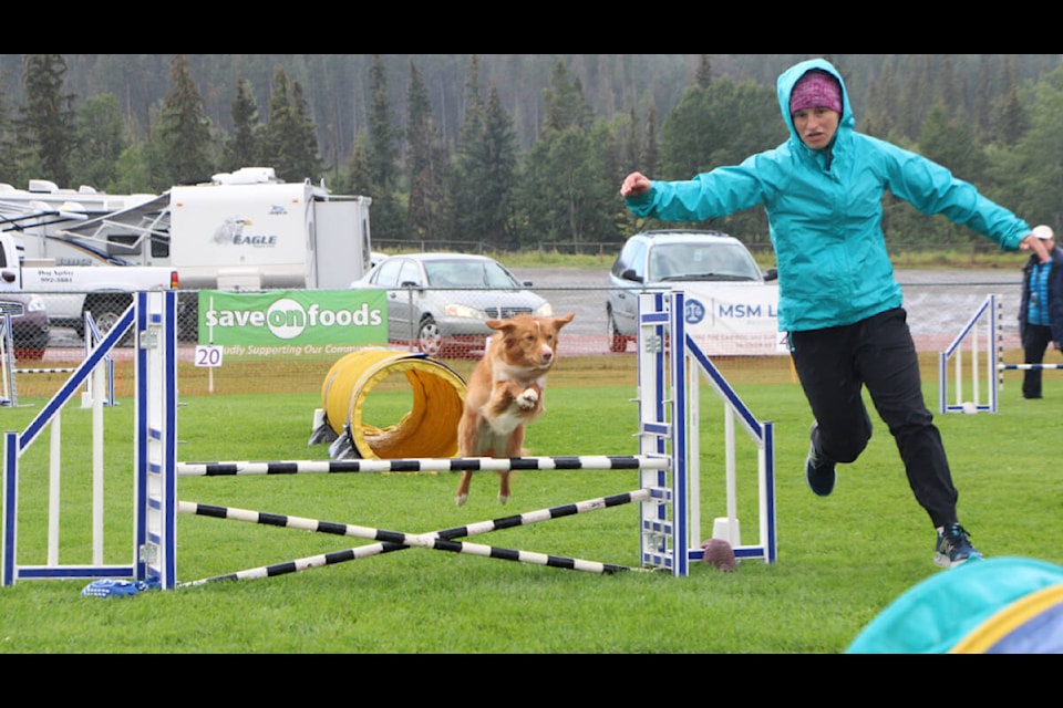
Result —
<path fill-rule="evenodd" d="M 385 290 L 199 291 L 199 343 L 384 344 Z"/>

